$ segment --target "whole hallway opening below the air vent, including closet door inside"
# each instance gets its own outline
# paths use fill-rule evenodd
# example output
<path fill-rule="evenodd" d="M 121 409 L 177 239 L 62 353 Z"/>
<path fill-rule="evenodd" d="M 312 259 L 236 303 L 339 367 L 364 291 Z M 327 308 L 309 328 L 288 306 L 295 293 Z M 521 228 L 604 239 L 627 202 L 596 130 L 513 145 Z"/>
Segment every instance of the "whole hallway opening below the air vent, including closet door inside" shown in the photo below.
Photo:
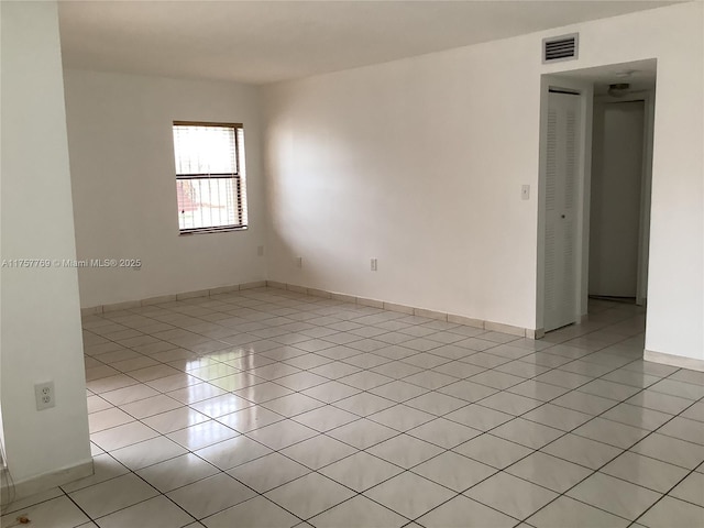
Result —
<path fill-rule="evenodd" d="M 542 76 L 538 334 L 645 333 L 654 87 L 654 59 Z"/>

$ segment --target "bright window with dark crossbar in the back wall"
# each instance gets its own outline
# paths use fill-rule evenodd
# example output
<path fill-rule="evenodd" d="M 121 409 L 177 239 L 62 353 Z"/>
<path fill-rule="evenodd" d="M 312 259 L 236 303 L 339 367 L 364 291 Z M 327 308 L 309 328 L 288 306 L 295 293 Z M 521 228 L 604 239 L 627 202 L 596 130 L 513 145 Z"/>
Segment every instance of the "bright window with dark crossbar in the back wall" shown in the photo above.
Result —
<path fill-rule="evenodd" d="M 246 228 L 244 129 L 174 122 L 180 234 Z"/>

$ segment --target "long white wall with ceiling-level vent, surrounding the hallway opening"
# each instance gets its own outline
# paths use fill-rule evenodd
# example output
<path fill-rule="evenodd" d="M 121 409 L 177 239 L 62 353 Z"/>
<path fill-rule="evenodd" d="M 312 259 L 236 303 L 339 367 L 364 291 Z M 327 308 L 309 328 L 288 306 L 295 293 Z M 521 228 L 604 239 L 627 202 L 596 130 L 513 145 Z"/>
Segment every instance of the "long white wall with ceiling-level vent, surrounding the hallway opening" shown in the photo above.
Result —
<path fill-rule="evenodd" d="M 692 2 L 267 88 L 270 278 L 536 328 L 540 75 L 657 58 L 647 346 L 704 358 L 702 20 Z M 573 31 L 580 58 L 543 66 Z"/>

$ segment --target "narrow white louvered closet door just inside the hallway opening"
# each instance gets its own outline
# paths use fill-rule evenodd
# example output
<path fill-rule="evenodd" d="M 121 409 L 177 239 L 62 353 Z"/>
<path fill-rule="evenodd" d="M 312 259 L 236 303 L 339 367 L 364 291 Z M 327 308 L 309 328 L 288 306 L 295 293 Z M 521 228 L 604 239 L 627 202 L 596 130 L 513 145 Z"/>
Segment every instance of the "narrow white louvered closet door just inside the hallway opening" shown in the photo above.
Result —
<path fill-rule="evenodd" d="M 544 330 L 576 321 L 580 97 L 549 95 L 546 160 Z"/>

